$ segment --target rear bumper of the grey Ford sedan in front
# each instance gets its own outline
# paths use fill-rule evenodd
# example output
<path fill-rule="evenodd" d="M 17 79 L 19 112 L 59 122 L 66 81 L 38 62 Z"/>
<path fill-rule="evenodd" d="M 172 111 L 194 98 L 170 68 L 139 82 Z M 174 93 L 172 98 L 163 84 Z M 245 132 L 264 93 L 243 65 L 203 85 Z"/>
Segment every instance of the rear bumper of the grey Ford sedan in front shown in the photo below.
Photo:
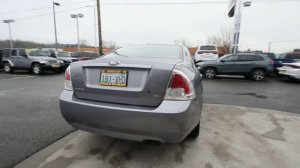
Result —
<path fill-rule="evenodd" d="M 200 121 L 202 105 L 196 99 L 164 100 L 158 107 L 101 103 L 79 100 L 65 90 L 60 95 L 60 109 L 77 129 L 120 139 L 178 143 Z"/>

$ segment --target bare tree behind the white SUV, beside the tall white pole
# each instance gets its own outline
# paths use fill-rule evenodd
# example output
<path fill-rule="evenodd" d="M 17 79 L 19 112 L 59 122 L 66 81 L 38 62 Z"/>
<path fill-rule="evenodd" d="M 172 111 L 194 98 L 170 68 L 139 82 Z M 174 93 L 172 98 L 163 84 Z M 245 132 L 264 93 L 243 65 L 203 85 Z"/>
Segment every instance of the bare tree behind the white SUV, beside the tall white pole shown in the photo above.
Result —
<path fill-rule="evenodd" d="M 219 35 L 208 37 L 207 43 L 217 45 L 220 52 L 223 54 L 228 54 L 232 44 L 232 32 L 233 31 L 230 28 L 223 28 L 221 29 Z"/>

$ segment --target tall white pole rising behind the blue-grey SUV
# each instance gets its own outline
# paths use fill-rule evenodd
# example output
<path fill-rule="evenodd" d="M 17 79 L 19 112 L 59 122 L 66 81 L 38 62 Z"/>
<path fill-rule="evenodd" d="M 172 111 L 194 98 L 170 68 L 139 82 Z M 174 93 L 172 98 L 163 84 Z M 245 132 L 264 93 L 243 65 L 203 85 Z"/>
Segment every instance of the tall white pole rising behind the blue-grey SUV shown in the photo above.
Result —
<path fill-rule="evenodd" d="M 240 29 L 241 29 L 241 20 L 242 20 L 242 8 L 244 7 L 250 7 L 251 1 L 245 1 L 242 3 L 242 0 L 236 0 L 235 1 L 235 11 L 234 11 L 234 35 L 233 35 L 233 45 L 232 45 L 232 52 L 234 54 L 238 51 L 238 45 L 239 45 L 239 38 L 240 38 Z"/>

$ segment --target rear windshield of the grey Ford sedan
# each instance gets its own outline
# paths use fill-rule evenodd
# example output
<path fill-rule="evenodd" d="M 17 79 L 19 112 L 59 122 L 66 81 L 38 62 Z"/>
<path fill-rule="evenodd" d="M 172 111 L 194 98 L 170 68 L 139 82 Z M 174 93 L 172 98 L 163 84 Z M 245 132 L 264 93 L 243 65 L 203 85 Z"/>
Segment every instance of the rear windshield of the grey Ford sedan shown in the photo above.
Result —
<path fill-rule="evenodd" d="M 181 59 L 180 48 L 171 45 L 127 46 L 114 50 L 105 57 Z"/>

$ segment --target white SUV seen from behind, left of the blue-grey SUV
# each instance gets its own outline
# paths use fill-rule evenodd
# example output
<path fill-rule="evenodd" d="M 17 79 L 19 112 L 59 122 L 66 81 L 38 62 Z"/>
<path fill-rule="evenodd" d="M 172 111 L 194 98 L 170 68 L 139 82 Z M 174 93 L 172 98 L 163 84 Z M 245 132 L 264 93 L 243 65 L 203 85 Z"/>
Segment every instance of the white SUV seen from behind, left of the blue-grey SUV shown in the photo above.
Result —
<path fill-rule="evenodd" d="M 219 58 L 219 52 L 214 45 L 203 45 L 195 53 L 195 61 L 214 61 Z"/>

